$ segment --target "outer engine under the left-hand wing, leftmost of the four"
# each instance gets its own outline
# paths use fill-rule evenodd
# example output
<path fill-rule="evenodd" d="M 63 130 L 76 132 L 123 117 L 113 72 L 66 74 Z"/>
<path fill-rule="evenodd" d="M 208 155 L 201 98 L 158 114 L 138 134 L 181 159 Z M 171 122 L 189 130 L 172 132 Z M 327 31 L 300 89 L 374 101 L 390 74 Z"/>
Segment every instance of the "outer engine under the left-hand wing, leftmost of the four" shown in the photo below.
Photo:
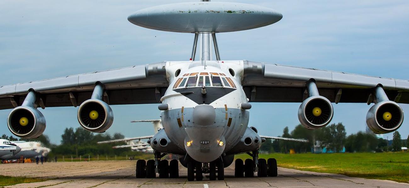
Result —
<path fill-rule="evenodd" d="M 45 130 L 45 118 L 33 107 L 19 106 L 10 112 L 7 127 L 20 138 L 38 138 Z"/>

